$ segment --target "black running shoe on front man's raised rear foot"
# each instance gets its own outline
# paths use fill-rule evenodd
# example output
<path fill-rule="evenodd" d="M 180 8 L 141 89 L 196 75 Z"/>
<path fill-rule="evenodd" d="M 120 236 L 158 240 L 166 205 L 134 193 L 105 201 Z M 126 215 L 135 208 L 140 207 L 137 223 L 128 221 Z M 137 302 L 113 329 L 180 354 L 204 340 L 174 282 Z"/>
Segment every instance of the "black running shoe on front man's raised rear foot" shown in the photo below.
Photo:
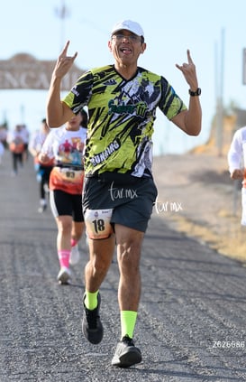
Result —
<path fill-rule="evenodd" d="M 86 294 L 84 296 L 84 301 Z M 82 331 L 86 339 L 96 345 L 101 342 L 104 337 L 104 328 L 102 322 L 100 321 L 99 310 L 101 304 L 100 293 L 97 294 L 97 306 L 93 311 L 87 309 L 84 303 L 84 316 L 82 320 Z"/>

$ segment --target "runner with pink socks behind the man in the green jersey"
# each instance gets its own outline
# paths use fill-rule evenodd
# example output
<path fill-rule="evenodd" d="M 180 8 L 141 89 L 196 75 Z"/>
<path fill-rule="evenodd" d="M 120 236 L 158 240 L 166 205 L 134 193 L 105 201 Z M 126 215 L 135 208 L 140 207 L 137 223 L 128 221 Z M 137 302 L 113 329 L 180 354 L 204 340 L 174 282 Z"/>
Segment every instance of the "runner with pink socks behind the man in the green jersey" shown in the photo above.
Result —
<path fill-rule="evenodd" d="M 83 127 L 81 127 L 83 124 Z M 83 154 L 87 138 L 87 112 L 81 110 L 66 126 L 52 129 L 41 148 L 41 163 L 54 160 L 50 172 L 50 208 L 57 222 L 60 284 L 69 284 L 69 265 L 78 261 L 77 243 L 84 231 L 82 187 Z"/>

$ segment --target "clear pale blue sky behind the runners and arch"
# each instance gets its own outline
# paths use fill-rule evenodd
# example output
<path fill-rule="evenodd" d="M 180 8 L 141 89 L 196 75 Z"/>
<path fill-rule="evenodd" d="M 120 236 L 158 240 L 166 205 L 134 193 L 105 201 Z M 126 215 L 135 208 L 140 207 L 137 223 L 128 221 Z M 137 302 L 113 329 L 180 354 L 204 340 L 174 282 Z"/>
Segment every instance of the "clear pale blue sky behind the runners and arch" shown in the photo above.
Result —
<path fill-rule="evenodd" d="M 57 10 L 65 3 L 69 14 L 62 22 Z M 115 22 L 127 18 L 141 23 L 147 50 L 139 65 L 163 75 L 188 103 L 188 86 L 176 63 L 187 61 L 190 49 L 202 89 L 203 129 L 189 137 L 158 113 L 154 153 L 182 154 L 207 140 L 223 89 L 223 104 L 246 109 L 242 84 L 242 50 L 246 48 L 246 1 L 234 0 L 13 0 L 1 5 L 0 60 L 25 52 L 39 60 L 56 60 L 61 44 L 70 40 L 69 53 L 78 51 L 81 69 L 113 62 L 107 49 Z M 221 72 L 220 72 L 221 71 Z M 4 116 L 13 128 L 24 122 L 33 131 L 45 114 L 46 91 L 0 90 L 0 123 Z"/>

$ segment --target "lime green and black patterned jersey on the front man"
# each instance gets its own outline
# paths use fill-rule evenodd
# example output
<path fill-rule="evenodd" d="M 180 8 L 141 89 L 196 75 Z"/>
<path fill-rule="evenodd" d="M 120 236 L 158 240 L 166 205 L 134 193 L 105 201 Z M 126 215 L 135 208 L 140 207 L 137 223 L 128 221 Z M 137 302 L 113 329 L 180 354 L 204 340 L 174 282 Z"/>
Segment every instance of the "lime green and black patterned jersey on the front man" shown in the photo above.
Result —
<path fill-rule="evenodd" d="M 151 176 L 156 108 L 169 119 L 187 109 L 167 79 L 138 67 L 132 79 L 114 65 L 89 70 L 63 98 L 77 114 L 88 107 L 85 172 Z"/>

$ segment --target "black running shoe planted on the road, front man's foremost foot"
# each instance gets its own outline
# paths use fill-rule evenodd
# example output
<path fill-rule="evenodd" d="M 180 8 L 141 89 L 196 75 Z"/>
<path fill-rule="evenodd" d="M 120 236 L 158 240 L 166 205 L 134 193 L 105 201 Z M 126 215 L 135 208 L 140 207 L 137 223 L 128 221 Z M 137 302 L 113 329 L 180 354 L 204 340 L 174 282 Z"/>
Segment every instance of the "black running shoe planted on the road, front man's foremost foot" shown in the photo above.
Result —
<path fill-rule="evenodd" d="M 112 365 L 119 368 L 129 368 L 130 366 L 141 362 L 141 351 L 136 348 L 132 339 L 128 336 L 118 342 Z"/>

